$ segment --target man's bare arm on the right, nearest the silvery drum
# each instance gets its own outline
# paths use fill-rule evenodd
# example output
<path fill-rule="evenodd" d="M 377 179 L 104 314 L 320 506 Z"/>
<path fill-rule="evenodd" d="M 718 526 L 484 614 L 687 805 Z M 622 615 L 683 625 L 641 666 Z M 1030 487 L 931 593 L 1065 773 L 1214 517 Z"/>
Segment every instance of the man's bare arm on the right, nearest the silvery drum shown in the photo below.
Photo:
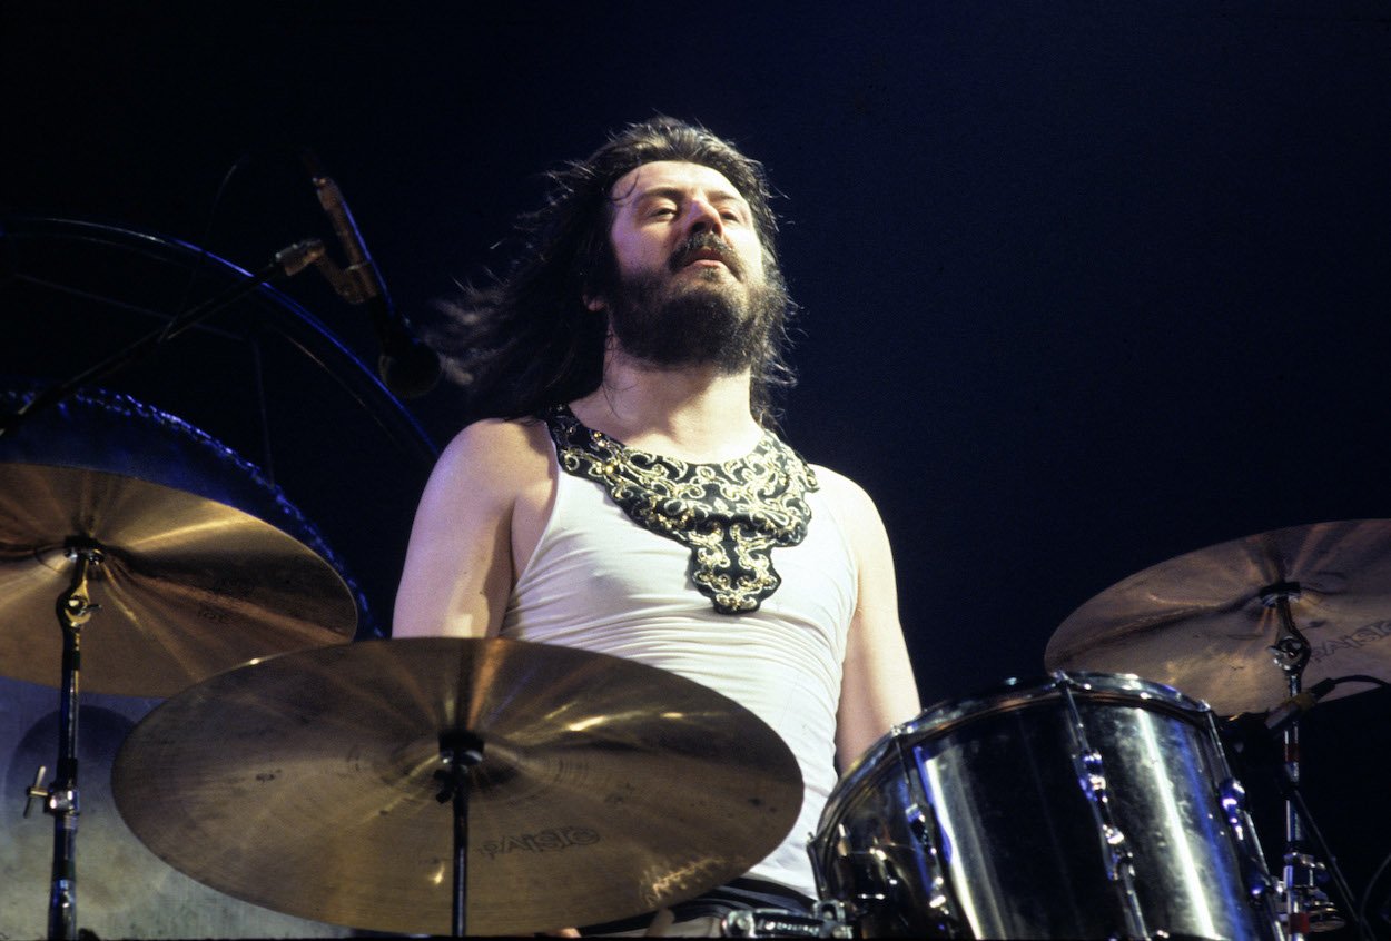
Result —
<path fill-rule="evenodd" d="M 818 468 L 840 507 L 860 571 L 860 596 L 846 645 L 836 719 L 836 758 L 846 769 L 894 724 L 922 709 L 899 623 L 893 552 L 874 500 L 844 477 Z"/>

